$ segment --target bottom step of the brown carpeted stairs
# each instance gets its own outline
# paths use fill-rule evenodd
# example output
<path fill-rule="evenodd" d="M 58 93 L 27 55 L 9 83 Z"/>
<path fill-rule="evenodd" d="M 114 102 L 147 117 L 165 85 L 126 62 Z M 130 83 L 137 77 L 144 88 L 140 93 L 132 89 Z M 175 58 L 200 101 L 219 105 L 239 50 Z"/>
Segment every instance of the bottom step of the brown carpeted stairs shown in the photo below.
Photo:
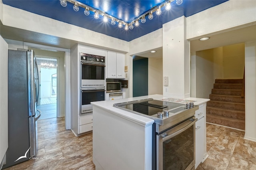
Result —
<path fill-rule="evenodd" d="M 245 130 L 245 121 L 240 119 L 233 119 L 218 115 L 206 114 L 206 122 Z"/>

